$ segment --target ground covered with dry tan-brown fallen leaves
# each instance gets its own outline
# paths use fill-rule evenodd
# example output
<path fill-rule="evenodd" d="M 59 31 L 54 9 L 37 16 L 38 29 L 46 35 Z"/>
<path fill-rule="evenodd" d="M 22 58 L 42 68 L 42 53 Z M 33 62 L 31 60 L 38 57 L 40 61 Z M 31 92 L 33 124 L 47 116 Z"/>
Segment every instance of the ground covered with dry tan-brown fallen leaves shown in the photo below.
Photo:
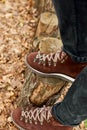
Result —
<path fill-rule="evenodd" d="M 0 0 L 0 129 L 18 130 L 11 112 L 24 83 L 24 57 L 32 47 L 37 26 L 32 0 Z M 74 128 L 85 130 L 84 123 Z"/>

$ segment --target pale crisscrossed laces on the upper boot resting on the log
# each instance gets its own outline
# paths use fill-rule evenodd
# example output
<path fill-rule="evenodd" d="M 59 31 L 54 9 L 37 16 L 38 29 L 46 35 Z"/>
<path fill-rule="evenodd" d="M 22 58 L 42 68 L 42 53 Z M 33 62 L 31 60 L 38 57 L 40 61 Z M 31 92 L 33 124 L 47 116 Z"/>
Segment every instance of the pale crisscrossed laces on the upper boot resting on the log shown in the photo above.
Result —
<path fill-rule="evenodd" d="M 48 66 L 56 66 L 58 60 L 63 63 L 66 59 L 66 53 L 60 50 L 58 50 L 56 53 L 50 54 L 42 54 L 39 51 L 34 59 L 34 62 L 38 62 L 38 64 L 43 64 L 44 66 L 46 65 L 46 63 L 48 63 Z"/>

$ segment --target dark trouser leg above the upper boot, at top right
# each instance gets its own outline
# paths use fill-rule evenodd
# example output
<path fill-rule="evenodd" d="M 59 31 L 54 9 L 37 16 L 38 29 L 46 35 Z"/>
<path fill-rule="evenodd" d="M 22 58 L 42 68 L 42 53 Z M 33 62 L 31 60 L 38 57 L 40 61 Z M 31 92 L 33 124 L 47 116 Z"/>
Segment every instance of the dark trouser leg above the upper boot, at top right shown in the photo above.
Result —
<path fill-rule="evenodd" d="M 87 0 L 53 0 L 63 49 L 74 61 L 87 62 Z"/>

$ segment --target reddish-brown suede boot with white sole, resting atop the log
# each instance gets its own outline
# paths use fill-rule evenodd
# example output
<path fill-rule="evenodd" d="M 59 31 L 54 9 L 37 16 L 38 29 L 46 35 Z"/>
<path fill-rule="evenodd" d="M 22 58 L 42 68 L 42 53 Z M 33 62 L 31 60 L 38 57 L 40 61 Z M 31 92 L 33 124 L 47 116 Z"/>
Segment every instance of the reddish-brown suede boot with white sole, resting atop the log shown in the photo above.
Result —
<path fill-rule="evenodd" d="M 87 65 L 87 63 L 74 62 L 63 51 L 50 54 L 32 52 L 26 56 L 26 64 L 34 73 L 44 77 L 59 77 L 71 82 Z"/>

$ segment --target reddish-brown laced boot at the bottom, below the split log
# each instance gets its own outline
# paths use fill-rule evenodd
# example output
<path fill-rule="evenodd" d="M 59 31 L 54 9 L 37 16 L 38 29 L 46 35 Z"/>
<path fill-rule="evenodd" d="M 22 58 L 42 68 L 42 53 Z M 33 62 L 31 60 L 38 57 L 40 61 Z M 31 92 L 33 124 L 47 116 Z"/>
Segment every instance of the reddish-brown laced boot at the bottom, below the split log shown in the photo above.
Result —
<path fill-rule="evenodd" d="M 12 120 L 22 130 L 72 130 L 73 127 L 56 121 L 51 110 L 52 107 L 49 106 L 17 108 L 12 113 Z"/>

